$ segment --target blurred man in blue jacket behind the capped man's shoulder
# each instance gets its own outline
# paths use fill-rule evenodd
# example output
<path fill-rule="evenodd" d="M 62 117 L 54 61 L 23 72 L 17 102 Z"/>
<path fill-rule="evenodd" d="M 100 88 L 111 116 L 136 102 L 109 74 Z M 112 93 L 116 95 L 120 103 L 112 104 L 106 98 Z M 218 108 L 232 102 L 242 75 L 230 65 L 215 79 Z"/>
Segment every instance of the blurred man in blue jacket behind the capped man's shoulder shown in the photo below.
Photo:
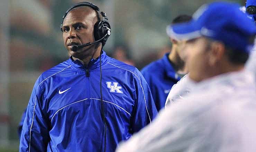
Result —
<path fill-rule="evenodd" d="M 180 15 L 173 19 L 172 24 L 188 22 L 191 18 L 188 15 Z M 182 51 L 185 41 L 178 41 L 168 30 L 167 35 L 172 42 L 171 53 L 165 54 L 163 58 L 150 63 L 141 70 L 152 92 L 157 111 L 165 106 L 166 98 L 172 86 L 187 73 L 184 69 L 186 56 Z"/>

